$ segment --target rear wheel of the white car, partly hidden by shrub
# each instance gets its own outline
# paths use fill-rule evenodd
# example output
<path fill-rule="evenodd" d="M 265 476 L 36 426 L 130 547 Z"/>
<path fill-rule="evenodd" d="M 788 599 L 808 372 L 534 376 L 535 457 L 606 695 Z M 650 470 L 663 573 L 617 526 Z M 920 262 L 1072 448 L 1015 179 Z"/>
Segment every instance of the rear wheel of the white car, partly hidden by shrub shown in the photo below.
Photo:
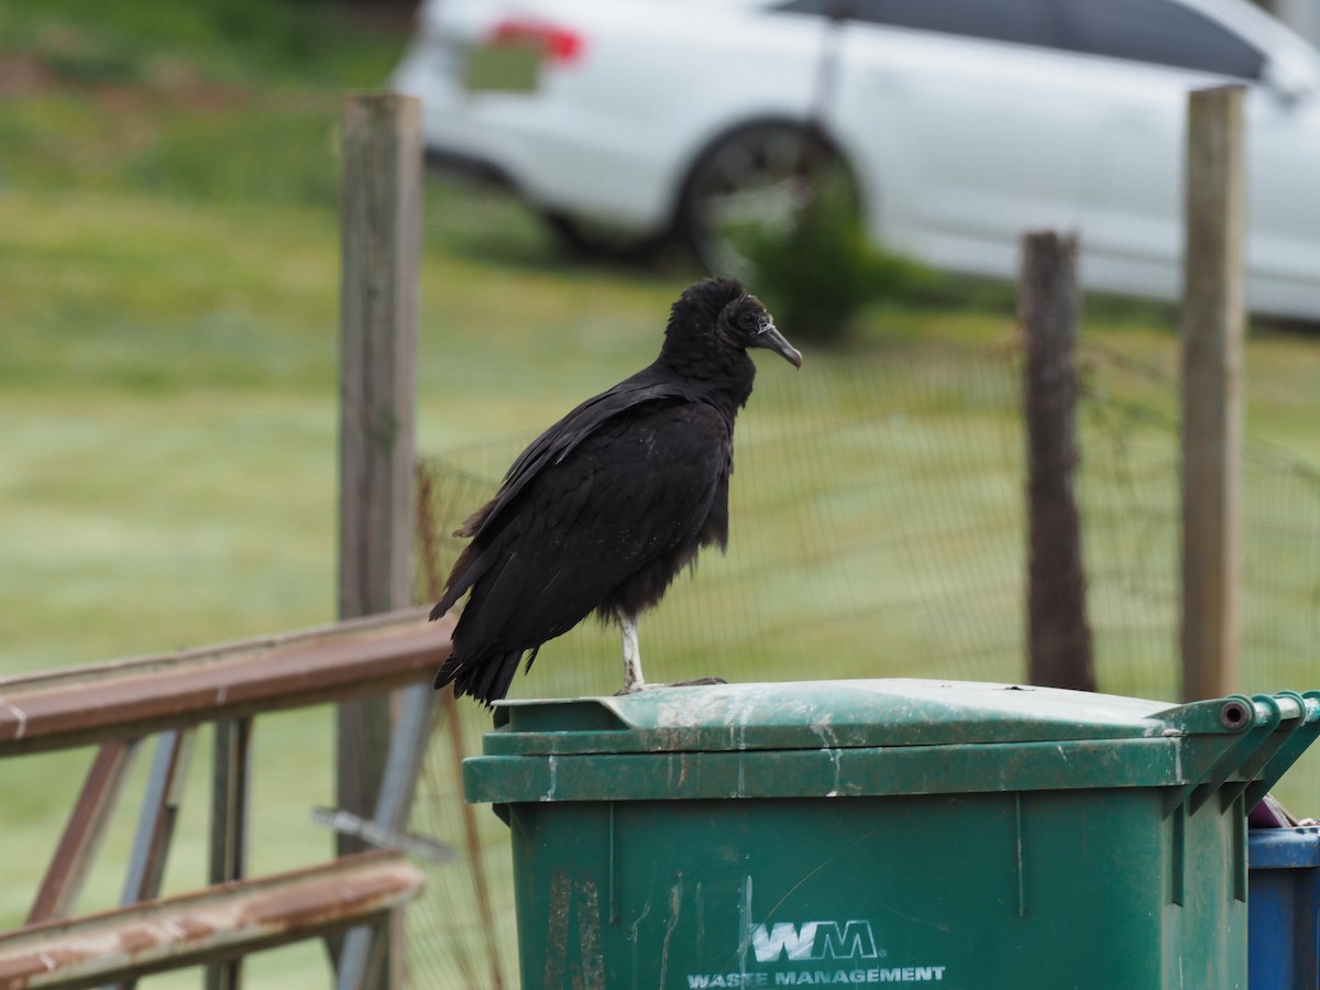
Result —
<path fill-rule="evenodd" d="M 710 272 L 750 279 L 752 242 L 766 232 L 787 235 L 826 173 L 837 173 L 857 202 L 838 153 L 808 128 L 767 123 L 734 131 L 693 168 L 678 231 Z"/>

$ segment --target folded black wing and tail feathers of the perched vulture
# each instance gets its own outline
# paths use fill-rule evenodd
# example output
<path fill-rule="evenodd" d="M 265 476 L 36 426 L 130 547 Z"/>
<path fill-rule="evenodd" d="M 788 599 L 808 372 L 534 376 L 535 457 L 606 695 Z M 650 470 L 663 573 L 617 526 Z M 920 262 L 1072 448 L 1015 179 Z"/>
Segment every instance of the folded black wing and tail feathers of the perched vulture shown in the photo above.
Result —
<path fill-rule="evenodd" d="M 441 669 L 459 692 L 503 697 L 525 651 L 595 609 L 659 599 L 702 544 L 723 543 L 727 418 L 672 395 L 607 405 L 589 403 L 535 441 L 471 520 L 433 612 L 471 589 Z"/>

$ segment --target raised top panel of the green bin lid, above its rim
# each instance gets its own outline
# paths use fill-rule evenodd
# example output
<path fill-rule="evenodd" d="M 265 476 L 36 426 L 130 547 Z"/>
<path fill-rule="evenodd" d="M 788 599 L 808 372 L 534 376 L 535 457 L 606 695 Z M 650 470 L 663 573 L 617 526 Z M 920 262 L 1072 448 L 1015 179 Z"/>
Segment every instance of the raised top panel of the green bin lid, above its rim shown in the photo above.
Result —
<path fill-rule="evenodd" d="M 1133 739 L 1177 731 L 1167 701 L 917 678 L 655 688 L 500 702 L 487 752 L 818 750 Z M 1172 709 L 1175 713 L 1177 709 Z"/>

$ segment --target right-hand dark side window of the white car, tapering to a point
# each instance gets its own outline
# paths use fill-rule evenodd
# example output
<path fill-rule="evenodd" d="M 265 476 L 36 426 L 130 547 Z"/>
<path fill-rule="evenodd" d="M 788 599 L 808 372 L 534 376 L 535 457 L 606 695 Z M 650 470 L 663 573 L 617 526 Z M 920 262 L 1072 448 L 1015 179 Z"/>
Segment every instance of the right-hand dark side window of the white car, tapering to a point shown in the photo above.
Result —
<path fill-rule="evenodd" d="M 1131 62 L 1259 79 L 1265 55 L 1222 25 L 1170 0 L 1059 0 L 1068 48 Z"/>

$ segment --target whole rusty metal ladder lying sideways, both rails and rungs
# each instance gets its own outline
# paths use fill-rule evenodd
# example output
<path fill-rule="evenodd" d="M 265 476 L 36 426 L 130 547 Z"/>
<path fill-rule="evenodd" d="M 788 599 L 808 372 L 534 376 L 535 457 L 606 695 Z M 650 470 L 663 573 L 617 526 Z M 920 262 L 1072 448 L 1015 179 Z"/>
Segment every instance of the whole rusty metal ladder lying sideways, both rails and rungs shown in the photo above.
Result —
<path fill-rule="evenodd" d="M 421 883 L 397 851 L 242 879 L 248 837 L 248 735 L 267 711 L 400 694 L 375 821 L 407 821 L 430 731 L 429 680 L 450 652 L 451 627 L 424 610 L 181 653 L 0 678 L 0 756 L 99 743 L 83 791 L 25 928 L 0 933 L 0 990 L 132 987 L 144 973 L 207 964 L 207 986 L 239 985 L 243 954 L 351 929 L 337 986 L 364 987 L 385 915 Z M 178 795 L 197 726 L 216 725 L 213 760 L 213 886 L 157 900 Z M 66 919 L 104 833 L 137 743 L 157 735 L 123 907 Z M 222 883 L 222 880 L 231 880 Z M 351 949 L 351 950 L 350 950 Z"/>

